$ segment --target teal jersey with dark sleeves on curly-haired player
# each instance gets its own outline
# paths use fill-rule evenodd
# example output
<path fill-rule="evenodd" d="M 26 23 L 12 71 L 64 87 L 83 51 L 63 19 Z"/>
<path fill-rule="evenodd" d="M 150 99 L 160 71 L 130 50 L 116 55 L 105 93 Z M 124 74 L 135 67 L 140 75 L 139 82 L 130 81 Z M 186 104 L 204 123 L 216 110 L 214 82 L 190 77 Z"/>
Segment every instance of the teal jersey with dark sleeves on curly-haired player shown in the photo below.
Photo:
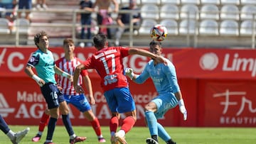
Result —
<path fill-rule="evenodd" d="M 36 68 L 38 77 L 43 79 L 46 83 L 51 82 L 56 84 L 55 81 L 55 62 L 53 58 L 53 53 L 50 50 L 47 52 L 42 52 L 41 50 L 36 50 L 33 52 L 30 60 L 28 60 L 27 65 Z"/>

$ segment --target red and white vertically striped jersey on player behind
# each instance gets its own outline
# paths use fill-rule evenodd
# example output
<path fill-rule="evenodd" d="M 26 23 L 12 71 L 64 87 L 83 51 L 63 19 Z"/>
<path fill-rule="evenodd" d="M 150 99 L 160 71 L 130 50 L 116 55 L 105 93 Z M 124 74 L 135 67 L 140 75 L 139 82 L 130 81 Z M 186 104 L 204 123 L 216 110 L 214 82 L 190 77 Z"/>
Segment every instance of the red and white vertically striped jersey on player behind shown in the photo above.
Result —
<path fill-rule="evenodd" d="M 75 67 L 80 65 L 81 62 L 82 60 L 78 59 L 78 57 L 74 57 L 74 59 L 70 61 L 65 59 L 65 57 L 62 57 L 59 60 L 56 60 L 55 64 L 64 72 L 67 72 L 68 74 L 73 75 L 75 71 Z M 78 85 L 82 85 L 82 77 L 84 77 L 85 75 L 88 75 L 88 72 L 86 70 L 82 70 L 78 78 Z M 75 89 L 73 87 L 73 82 L 70 82 L 70 80 L 67 77 L 58 75 L 57 82 L 60 85 L 60 87 L 63 88 L 63 91 L 62 91 L 63 94 L 78 95 L 78 93 L 75 92 Z"/>

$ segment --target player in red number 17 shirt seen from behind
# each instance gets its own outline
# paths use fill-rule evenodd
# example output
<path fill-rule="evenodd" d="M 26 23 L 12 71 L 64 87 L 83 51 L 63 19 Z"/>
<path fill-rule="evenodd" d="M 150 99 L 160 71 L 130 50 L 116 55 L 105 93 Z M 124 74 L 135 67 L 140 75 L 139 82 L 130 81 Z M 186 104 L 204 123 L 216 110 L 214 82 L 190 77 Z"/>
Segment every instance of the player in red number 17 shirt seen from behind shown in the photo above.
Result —
<path fill-rule="evenodd" d="M 112 118 L 110 118 L 111 143 L 126 144 L 124 135 L 132 129 L 137 121 L 137 116 L 134 99 L 129 92 L 127 78 L 124 76 L 122 59 L 134 54 L 151 57 L 157 62 L 164 62 L 164 59 L 142 49 L 108 47 L 107 36 L 103 34 L 95 35 L 93 42 L 97 52 L 75 68 L 73 82 L 75 91 L 84 93 L 82 87 L 78 85 L 78 78 L 82 70 L 97 70 L 101 77 L 104 96 L 112 112 Z M 122 121 L 121 129 L 116 133 L 117 127 L 119 126 L 119 113 L 124 113 L 126 118 Z"/>

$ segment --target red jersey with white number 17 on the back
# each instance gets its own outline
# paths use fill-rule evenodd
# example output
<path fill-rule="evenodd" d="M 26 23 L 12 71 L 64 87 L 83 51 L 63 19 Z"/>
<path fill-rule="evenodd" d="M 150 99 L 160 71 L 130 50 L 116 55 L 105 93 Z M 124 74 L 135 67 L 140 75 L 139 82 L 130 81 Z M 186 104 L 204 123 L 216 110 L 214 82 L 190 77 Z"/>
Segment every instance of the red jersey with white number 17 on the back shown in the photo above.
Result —
<path fill-rule="evenodd" d="M 116 87 L 128 86 L 122 60 L 129 55 L 128 50 L 129 48 L 124 47 L 103 48 L 82 62 L 86 69 L 95 69 L 100 75 L 104 92 Z"/>

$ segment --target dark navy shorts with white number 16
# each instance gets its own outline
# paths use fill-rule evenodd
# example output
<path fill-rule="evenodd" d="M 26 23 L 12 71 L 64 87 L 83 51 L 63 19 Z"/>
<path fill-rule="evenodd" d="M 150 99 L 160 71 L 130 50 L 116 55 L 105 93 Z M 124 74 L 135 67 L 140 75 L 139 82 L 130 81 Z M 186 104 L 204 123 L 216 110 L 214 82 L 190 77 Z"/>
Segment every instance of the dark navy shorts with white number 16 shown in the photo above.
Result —
<path fill-rule="evenodd" d="M 63 94 L 58 90 L 58 87 L 53 83 L 44 84 L 41 87 L 43 97 L 46 99 L 48 109 L 57 108 L 60 102 L 65 101 Z"/>

